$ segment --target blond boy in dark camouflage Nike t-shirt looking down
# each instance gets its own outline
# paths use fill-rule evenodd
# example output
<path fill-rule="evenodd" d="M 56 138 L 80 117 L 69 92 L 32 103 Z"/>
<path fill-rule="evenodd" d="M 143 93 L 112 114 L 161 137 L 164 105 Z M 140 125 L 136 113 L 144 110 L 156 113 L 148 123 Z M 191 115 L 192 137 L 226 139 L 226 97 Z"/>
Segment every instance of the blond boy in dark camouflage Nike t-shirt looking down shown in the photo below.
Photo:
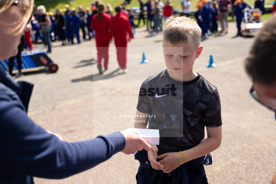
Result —
<path fill-rule="evenodd" d="M 159 129 L 160 144 L 136 153 L 137 183 L 208 183 L 203 164 L 211 164 L 209 153 L 220 146 L 222 121 L 217 88 L 193 71 L 203 48 L 200 35 L 196 22 L 185 16 L 165 22 L 167 69 L 143 82 L 135 120 L 149 124 L 134 126 Z"/>

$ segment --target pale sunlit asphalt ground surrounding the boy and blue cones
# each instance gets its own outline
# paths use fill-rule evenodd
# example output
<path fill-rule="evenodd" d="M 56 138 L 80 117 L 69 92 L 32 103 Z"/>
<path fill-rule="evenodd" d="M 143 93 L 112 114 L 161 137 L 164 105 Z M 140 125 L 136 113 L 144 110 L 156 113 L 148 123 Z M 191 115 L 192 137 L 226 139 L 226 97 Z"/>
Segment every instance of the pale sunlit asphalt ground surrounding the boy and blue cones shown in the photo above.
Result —
<path fill-rule="evenodd" d="M 35 83 L 29 116 L 47 130 L 58 133 L 64 141 L 84 141 L 100 134 L 133 127 L 137 91 L 151 75 L 166 69 L 162 34 L 150 36 L 144 28 L 128 44 L 128 73 L 118 70 L 116 48 L 110 45 L 109 68 L 98 74 L 95 40 L 60 46 L 53 43 L 49 57 L 58 64 L 57 73 L 44 69 L 24 73 L 22 78 Z M 212 35 L 202 41 L 202 54 L 194 70 L 220 93 L 223 140 L 212 152 L 213 164 L 206 166 L 208 182 L 270 183 L 276 171 L 276 122 L 274 113 L 262 107 L 249 94 L 251 81 L 244 71 L 246 57 L 254 37 L 235 37 L 235 23 L 228 34 Z M 34 45 L 35 49 L 46 48 Z M 147 64 L 140 64 L 145 52 Z M 210 54 L 215 68 L 207 68 Z M 206 135 L 205 135 L 206 136 Z M 35 178 L 35 183 L 136 183 L 139 163 L 134 155 L 118 153 L 88 171 L 62 180 Z"/>

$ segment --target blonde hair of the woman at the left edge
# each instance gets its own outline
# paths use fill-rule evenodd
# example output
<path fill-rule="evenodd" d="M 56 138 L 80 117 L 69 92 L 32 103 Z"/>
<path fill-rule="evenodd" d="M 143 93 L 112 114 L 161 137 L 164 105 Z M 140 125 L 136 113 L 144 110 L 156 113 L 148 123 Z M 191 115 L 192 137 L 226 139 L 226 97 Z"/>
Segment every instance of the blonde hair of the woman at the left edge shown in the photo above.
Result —
<path fill-rule="evenodd" d="M 22 31 L 26 27 L 26 24 L 28 23 L 28 20 L 32 16 L 33 5 L 34 5 L 34 0 L 29 0 L 28 6 L 26 6 L 22 3 L 19 3 L 18 1 L 0 0 L 0 14 L 2 12 L 6 11 L 11 6 L 19 6 L 21 8 L 26 8 L 24 15 L 20 19 L 18 19 L 17 21 L 15 21 L 13 23 L 6 23 L 6 22 L 0 20 L 0 23 L 2 23 L 4 26 L 7 27 L 6 32 L 8 34 L 18 35 L 18 34 L 22 33 Z M 13 28 L 10 28 L 10 27 L 13 27 Z"/>

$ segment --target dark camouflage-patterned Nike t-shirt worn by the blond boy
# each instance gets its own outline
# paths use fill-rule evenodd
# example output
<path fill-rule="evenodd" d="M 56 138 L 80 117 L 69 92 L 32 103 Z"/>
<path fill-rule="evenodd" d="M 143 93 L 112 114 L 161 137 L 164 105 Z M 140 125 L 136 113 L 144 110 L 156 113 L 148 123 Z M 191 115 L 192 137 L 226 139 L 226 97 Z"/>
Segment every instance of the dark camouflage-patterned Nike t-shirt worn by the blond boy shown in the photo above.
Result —
<path fill-rule="evenodd" d="M 167 70 L 146 79 L 137 110 L 149 114 L 149 129 L 159 129 L 159 154 L 190 149 L 204 138 L 204 127 L 222 125 L 217 88 L 201 75 L 189 82 L 170 78 Z"/>

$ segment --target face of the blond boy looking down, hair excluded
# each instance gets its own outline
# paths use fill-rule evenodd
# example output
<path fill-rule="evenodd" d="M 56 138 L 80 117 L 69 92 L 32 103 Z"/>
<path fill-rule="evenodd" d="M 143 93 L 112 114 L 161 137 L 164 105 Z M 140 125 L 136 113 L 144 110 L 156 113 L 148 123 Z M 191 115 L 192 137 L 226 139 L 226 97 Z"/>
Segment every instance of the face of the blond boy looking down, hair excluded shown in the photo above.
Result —
<path fill-rule="evenodd" d="M 193 64 L 201 54 L 203 46 L 197 49 L 192 43 L 171 44 L 163 42 L 163 52 L 168 73 L 177 81 L 190 81 L 194 79 Z"/>

